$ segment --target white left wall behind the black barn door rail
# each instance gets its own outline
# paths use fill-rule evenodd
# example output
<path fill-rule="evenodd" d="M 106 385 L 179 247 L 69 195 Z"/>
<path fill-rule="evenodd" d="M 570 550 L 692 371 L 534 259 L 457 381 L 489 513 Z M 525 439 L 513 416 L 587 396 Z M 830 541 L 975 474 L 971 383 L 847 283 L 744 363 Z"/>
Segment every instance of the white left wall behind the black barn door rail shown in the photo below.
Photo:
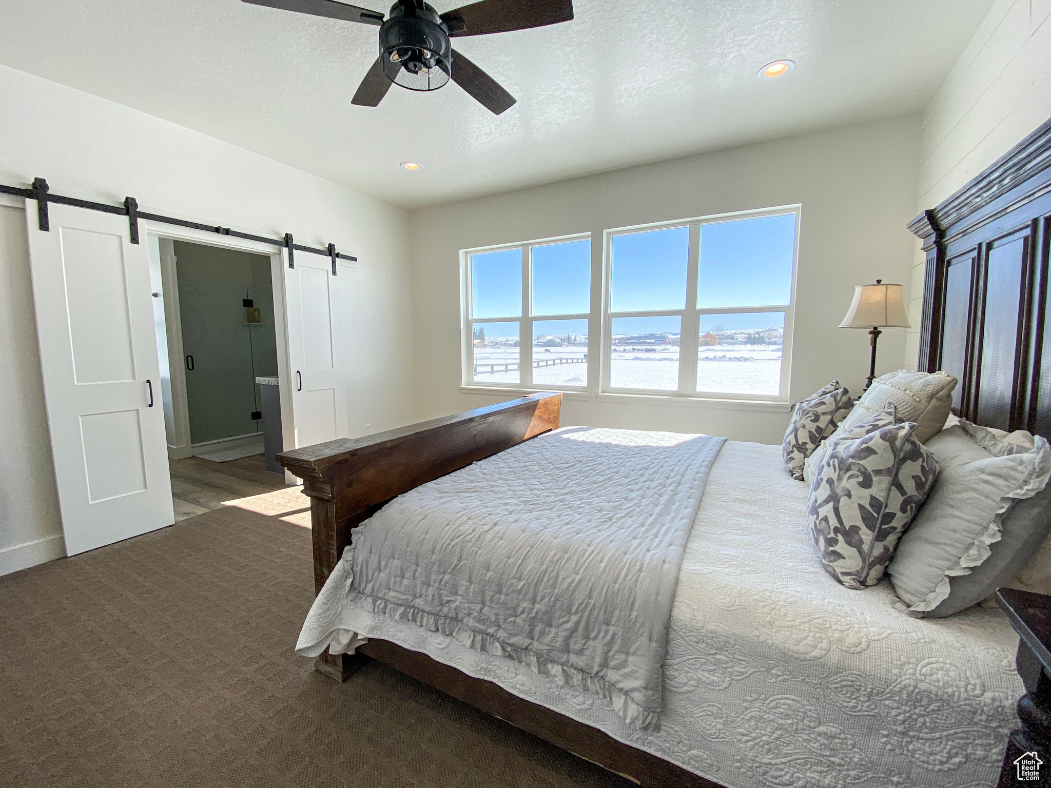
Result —
<path fill-rule="evenodd" d="M 356 254 L 355 335 L 383 337 L 348 386 L 350 432 L 411 421 L 408 216 L 401 209 L 88 94 L 0 66 L 0 183 Z M 334 129 L 333 133 L 339 133 Z M 7 201 L 5 205 L 18 205 Z M 0 208 L 0 574 L 62 554 L 24 211 Z M 336 338 L 353 341 L 354 336 Z"/>

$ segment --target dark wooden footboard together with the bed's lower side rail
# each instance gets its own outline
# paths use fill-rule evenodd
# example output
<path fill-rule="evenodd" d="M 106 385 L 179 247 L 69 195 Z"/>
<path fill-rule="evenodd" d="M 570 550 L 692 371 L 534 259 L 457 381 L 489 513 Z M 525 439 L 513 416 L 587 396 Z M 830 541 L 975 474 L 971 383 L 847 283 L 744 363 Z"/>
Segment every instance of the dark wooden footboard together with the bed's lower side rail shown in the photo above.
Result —
<path fill-rule="evenodd" d="M 455 416 L 365 438 L 332 440 L 277 455 L 303 479 L 310 496 L 314 593 L 335 568 L 351 530 L 395 496 L 558 427 L 561 394 L 532 394 Z M 651 788 L 721 788 L 656 755 L 618 742 L 596 728 L 518 698 L 424 654 L 370 640 L 354 655 L 317 658 L 316 668 L 346 680 L 376 659 L 538 735 L 611 771 Z"/>

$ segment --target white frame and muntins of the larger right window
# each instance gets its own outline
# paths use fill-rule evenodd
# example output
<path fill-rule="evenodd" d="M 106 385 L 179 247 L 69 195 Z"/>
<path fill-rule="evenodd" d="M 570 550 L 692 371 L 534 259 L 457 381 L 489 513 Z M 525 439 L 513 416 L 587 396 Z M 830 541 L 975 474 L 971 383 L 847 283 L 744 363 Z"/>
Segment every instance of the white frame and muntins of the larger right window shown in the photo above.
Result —
<path fill-rule="evenodd" d="M 709 216 L 699 216 L 695 219 L 684 219 L 672 222 L 655 222 L 645 225 L 634 225 L 631 227 L 618 227 L 611 230 L 603 230 L 602 239 L 602 371 L 601 371 L 601 393 L 603 394 L 630 394 L 648 395 L 662 397 L 680 397 L 688 399 L 737 399 L 761 402 L 787 402 L 788 381 L 791 373 L 791 346 L 792 328 L 796 317 L 796 276 L 799 269 L 799 230 L 800 230 L 800 205 L 778 206 L 775 208 L 764 208 L 761 210 L 735 211 L 733 213 L 718 213 Z M 698 308 L 697 307 L 697 285 L 698 269 L 700 267 L 701 248 L 701 227 L 708 224 L 723 224 L 726 222 L 740 222 L 749 219 L 762 219 L 763 216 L 781 216 L 794 214 L 796 216 L 796 236 L 792 244 L 791 260 L 791 285 L 787 304 L 777 305 L 740 305 L 733 307 Z M 614 312 L 612 309 L 613 296 L 613 239 L 617 235 L 628 235 L 635 232 L 648 232 L 652 230 L 665 230 L 677 227 L 689 228 L 688 251 L 686 258 L 686 302 L 682 309 L 658 309 L 639 312 Z M 697 391 L 697 354 L 699 343 L 700 316 L 702 314 L 741 314 L 744 312 L 783 312 L 784 313 L 784 336 L 781 345 L 781 381 L 778 387 L 777 396 L 769 394 L 742 394 L 738 392 L 714 392 Z M 680 318 L 679 328 L 679 388 L 671 389 L 628 389 L 614 388 L 610 385 L 611 356 L 613 349 L 613 320 L 618 317 L 663 317 L 671 316 Z M 590 341 L 589 341 L 590 344 Z"/>

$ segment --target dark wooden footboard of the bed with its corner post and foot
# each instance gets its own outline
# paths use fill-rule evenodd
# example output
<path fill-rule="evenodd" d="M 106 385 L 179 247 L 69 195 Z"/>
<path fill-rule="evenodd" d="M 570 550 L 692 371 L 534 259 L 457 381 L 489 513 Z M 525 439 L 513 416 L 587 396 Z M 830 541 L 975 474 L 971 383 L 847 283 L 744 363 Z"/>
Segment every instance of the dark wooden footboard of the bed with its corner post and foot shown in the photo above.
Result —
<path fill-rule="evenodd" d="M 314 594 L 335 568 L 351 531 L 391 498 L 472 462 L 557 429 L 562 395 L 538 393 L 455 416 L 341 438 L 277 455 L 303 479 L 310 496 Z M 364 664 L 360 655 L 317 658 L 315 667 L 346 681 Z"/>

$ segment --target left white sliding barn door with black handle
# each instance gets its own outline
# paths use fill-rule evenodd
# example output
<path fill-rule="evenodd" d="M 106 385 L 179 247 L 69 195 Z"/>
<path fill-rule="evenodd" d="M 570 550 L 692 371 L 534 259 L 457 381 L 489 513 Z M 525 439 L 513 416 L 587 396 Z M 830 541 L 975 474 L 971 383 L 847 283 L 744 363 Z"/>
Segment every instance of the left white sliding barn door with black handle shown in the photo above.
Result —
<path fill-rule="evenodd" d="M 26 201 L 66 553 L 174 522 L 146 244 L 124 216 Z"/>

